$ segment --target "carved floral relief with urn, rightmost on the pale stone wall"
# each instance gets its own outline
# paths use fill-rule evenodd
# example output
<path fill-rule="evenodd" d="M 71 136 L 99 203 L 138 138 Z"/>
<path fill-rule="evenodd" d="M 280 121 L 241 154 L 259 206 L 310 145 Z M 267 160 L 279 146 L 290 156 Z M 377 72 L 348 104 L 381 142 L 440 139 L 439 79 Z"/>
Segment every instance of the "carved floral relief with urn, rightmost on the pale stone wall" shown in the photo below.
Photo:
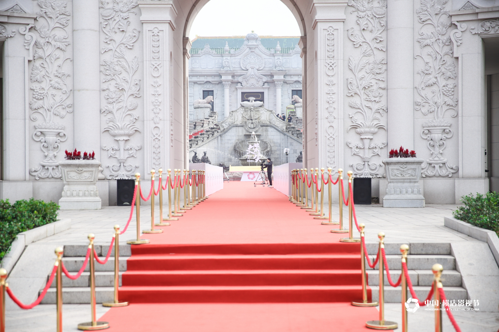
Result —
<path fill-rule="evenodd" d="M 451 111 L 451 117 L 458 115 L 458 98 L 455 96 L 457 78 L 456 63 L 452 55 L 451 36 L 448 29 L 451 26 L 449 10 L 445 9 L 447 0 L 421 0 L 421 6 L 416 11 L 419 28 L 423 67 L 417 72 L 419 84 L 416 92 L 416 110 L 424 115 L 433 113 L 433 119 L 423 123 L 421 137 L 428 141 L 427 146 L 431 157 L 423 163 L 422 176 L 449 176 L 458 171 L 458 166 L 449 164 L 442 156 L 446 140 L 453 136 L 451 123 L 444 119 Z"/>

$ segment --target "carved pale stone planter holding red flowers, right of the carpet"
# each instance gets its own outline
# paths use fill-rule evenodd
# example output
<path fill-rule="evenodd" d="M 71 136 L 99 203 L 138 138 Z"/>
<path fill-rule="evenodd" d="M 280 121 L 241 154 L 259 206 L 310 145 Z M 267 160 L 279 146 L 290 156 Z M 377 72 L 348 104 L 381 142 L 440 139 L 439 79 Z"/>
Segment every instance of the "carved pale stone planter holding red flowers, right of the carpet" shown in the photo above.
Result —
<path fill-rule="evenodd" d="M 388 180 L 383 207 L 425 207 L 425 197 L 419 185 L 423 163 L 424 160 L 420 158 L 383 160 Z"/>

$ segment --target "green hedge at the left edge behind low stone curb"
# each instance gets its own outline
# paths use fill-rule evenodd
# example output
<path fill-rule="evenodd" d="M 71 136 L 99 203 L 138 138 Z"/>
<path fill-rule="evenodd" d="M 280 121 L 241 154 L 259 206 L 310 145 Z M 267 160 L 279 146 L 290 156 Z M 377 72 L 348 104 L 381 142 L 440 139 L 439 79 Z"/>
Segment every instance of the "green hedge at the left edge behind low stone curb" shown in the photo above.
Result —
<path fill-rule="evenodd" d="M 0 259 L 8 252 L 17 234 L 57 220 L 59 206 L 42 200 L 18 200 L 10 205 L 0 200 Z"/>

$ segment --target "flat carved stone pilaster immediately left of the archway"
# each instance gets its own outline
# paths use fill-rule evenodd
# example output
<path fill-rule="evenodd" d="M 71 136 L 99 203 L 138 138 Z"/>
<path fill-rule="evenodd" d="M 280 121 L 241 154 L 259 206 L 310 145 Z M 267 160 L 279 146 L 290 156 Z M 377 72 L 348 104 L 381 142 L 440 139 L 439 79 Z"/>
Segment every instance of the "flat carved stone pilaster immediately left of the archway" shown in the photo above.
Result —
<path fill-rule="evenodd" d="M 171 3 L 140 3 L 144 38 L 145 167 L 173 168 L 174 112 L 170 39 L 177 11 Z M 182 100 L 178 101 L 183 104 Z M 178 122 L 183 116 L 178 115 Z M 180 130 L 179 130 L 180 131 Z M 183 135 L 179 132 L 179 136 Z M 180 137 L 179 137 L 180 140 Z M 183 154 L 183 152 L 182 152 Z"/>

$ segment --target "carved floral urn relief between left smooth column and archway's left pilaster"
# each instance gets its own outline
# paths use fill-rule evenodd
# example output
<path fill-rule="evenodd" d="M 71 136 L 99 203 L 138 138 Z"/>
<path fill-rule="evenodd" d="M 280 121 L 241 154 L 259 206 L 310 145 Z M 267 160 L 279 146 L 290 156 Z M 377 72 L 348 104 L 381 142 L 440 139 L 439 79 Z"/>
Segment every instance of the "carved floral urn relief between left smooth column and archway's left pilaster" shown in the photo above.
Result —
<path fill-rule="evenodd" d="M 108 152 L 108 157 L 118 160 L 118 164 L 106 165 L 110 171 L 107 178 L 131 178 L 138 165 L 125 163 L 128 158 L 136 157 L 137 150 L 141 149 L 140 145 L 125 145 L 138 131 L 134 124 L 139 117 L 134 111 L 139 106 L 135 99 L 140 97 L 140 80 L 137 78 L 139 59 L 136 56 L 131 58 L 127 52 L 139 39 L 137 29 L 129 31 L 128 19 L 131 14 L 136 14 L 132 9 L 137 3 L 132 0 L 113 0 L 111 3 L 101 0 L 100 3 L 101 29 L 107 44 L 102 48 L 102 54 L 107 55 L 101 63 L 102 82 L 107 86 L 102 88 L 106 105 L 101 108 L 101 113 L 107 117 L 108 125 L 104 131 L 118 141 L 117 146 L 102 147 Z M 125 151 L 128 153 L 125 154 Z"/>

